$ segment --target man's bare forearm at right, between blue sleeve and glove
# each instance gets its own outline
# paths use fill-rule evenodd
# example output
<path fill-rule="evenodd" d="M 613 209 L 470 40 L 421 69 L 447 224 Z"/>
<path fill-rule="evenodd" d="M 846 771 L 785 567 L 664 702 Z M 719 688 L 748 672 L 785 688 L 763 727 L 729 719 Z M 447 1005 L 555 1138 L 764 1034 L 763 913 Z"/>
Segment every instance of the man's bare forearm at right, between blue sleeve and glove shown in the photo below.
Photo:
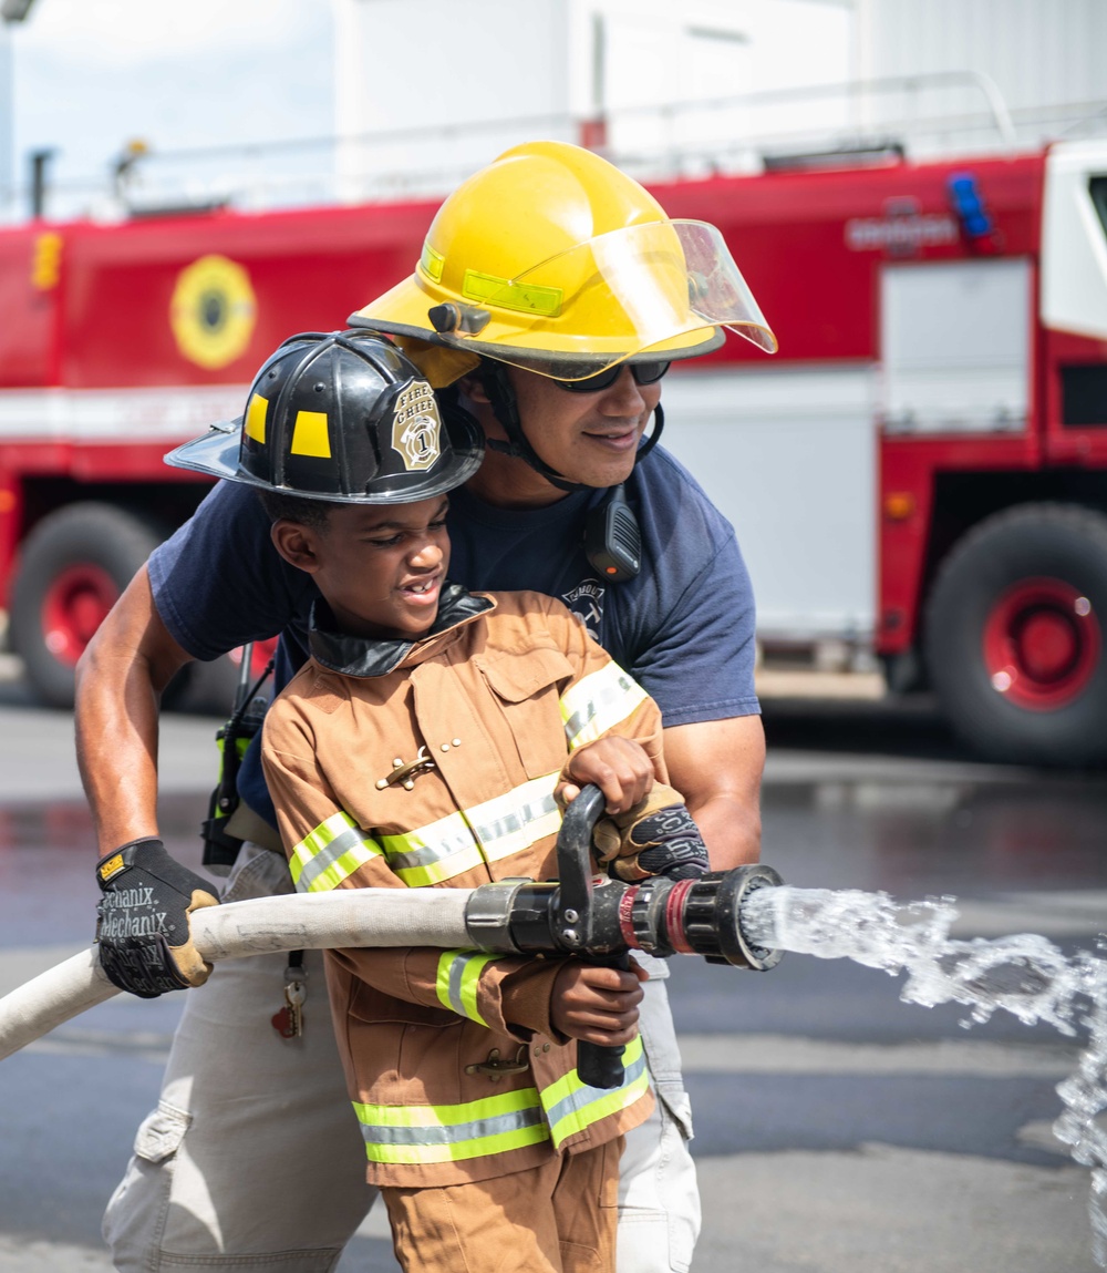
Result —
<path fill-rule="evenodd" d="M 707 844 L 714 871 L 761 855 L 760 715 L 672 726 L 664 731 L 669 782 L 685 797 Z"/>

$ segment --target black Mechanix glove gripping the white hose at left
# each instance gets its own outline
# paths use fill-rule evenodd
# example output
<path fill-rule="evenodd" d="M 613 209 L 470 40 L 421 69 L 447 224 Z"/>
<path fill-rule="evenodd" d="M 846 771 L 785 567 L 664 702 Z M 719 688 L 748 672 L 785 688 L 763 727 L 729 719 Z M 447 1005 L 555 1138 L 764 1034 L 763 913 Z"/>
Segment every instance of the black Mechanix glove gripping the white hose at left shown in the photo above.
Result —
<path fill-rule="evenodd" d="M 101 858 L 97 882 L 101 967 L 113 985 L 155 999 L 207 980 L 211 965 L 192 945 L 188 915 L 218 899 L 160 840 L 131 840 Z"/>

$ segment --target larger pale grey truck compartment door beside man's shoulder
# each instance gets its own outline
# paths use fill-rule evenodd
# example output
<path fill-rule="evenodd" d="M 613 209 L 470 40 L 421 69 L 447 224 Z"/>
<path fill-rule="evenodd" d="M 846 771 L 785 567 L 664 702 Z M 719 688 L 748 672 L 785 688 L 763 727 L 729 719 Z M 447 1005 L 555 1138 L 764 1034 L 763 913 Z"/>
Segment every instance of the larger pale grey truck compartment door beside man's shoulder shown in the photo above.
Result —
<path fill-rule="evenodd" d="M 873 382 L 870 363 L 665 377 L 663 444 L 738 532 L 766 644 L 873 635 Z"/>

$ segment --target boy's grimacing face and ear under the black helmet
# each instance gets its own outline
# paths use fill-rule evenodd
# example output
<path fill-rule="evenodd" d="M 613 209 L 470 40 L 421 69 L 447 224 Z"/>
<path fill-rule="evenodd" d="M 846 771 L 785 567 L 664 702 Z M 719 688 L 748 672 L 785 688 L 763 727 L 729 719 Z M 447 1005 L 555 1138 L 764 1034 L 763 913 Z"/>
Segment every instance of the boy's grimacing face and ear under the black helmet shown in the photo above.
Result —
<path fill-rule="evenodd" d="M 274 544 L 307 570 L 342 631 L 411 639 L 438 615 L 449 566 L 445 514 L 435 495 L 416 504 L 335 504 L 322 528 L 276 522 Z"/>

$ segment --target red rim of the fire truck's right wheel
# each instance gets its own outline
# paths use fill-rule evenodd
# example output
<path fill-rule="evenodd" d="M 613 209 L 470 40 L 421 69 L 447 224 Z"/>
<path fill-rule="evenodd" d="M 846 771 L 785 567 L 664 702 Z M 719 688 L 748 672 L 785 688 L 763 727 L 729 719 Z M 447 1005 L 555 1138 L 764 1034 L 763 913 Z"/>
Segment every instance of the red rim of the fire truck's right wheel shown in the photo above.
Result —
<path fill-rule="evenodd" d="M 1022 579 L 996 600 L 984 628 L 992 689 L 1029 712 L 1055 712 L 1079 698 L 1101 648 L 1090 601 L 1061 579 Z"/>

